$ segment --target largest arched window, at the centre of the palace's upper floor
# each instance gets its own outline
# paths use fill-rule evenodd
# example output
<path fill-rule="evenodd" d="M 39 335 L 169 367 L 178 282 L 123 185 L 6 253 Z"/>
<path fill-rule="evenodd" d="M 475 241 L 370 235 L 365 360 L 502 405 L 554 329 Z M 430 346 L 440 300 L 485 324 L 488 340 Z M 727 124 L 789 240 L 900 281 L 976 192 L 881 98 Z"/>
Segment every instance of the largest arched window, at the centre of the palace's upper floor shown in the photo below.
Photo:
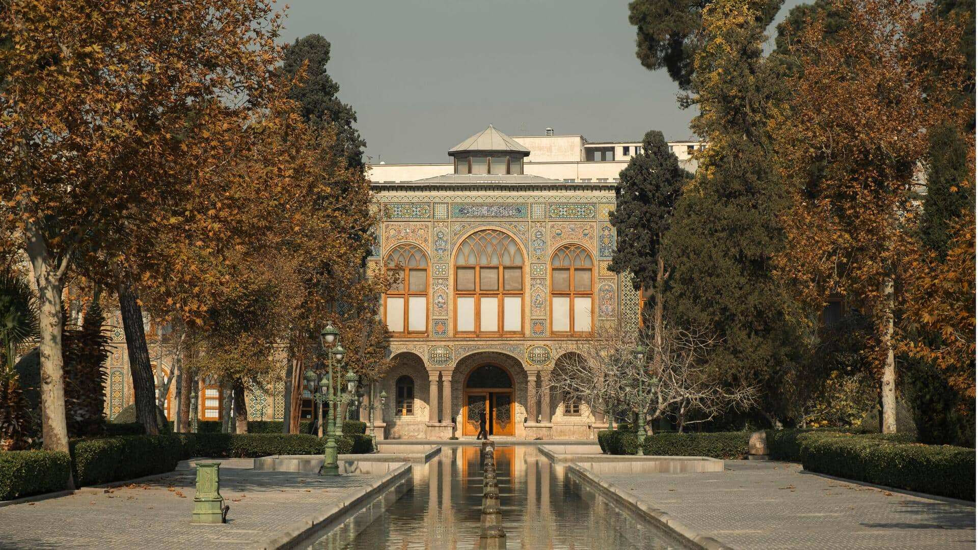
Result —
<path fill-rule="evenodd" d="M 455 332 L 522 334 L 523 252 L 487 229 L 469 235 L 455 256 Z"/>

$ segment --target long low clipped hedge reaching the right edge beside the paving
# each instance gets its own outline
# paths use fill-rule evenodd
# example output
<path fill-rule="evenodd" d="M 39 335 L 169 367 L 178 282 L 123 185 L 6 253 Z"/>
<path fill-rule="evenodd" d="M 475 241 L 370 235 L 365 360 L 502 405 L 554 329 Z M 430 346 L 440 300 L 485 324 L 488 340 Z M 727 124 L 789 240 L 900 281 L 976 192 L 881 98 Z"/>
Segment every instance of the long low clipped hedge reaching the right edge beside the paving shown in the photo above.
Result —
<path fill-rule="evenodd" d="M 902 489 L 975 499 L 975 451 L 849 434 L 799 435 L 811 472 Z"/>

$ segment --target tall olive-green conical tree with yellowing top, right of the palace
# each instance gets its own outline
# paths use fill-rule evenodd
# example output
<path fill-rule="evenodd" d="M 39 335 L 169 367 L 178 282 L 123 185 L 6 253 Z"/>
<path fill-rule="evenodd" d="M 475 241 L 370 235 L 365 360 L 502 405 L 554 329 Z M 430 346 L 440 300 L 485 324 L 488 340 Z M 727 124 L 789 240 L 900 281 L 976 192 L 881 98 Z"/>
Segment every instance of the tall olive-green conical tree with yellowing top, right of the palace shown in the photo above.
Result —
<path fill-rule="evenodd" d="M 723 338 L 713 363 L 732 385 L 767 387 L 775 420 L 778 371 L 793 361 L 797 332 L 772 257 L 784 242 L 778 213 L 788 205 L 772 164 L 768 120 L 781 94 L 778 64 L 763 57 L 764 25 L 747 2 L 703 10 L 706 43 L 691 90 L 692 129 L 708 142 L 664 239 L 674 266 L 670 317 Z"/>

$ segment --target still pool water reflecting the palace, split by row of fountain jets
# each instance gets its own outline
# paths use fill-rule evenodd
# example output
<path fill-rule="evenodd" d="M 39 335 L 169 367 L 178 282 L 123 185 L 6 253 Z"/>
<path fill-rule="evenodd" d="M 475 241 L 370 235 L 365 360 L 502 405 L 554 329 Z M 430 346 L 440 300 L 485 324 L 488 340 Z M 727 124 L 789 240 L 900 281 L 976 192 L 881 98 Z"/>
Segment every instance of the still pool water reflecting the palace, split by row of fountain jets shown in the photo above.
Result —
<path fill-rule="evenodd" d="M 615 508 L 551 463 L 536 446 L 496 449 L 503 527 L 514 549 L 681 548 L 655 527 Z M 310 549 L 478 548 L 482 505 L 479 447 L 443 446 L 416 465 L 413 489 L 379 497 Z M 581 491 L 574 490 L 576 485 Z"/>

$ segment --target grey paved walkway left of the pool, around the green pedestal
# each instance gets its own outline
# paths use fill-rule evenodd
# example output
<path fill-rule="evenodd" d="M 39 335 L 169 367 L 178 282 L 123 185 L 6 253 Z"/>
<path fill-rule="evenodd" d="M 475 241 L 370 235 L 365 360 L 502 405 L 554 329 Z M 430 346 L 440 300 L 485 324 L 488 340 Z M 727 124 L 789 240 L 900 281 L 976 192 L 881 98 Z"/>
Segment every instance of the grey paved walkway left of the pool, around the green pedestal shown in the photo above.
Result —
<path fill-rule="evenodd" d="M 255 472 L 251 460 L 220 462 L 221 495 L 231 506 L 226 525 L 191 525 L 196 474 L 182 462 L 165 478 L 111 492 L 79 492 L 4 506 L 0 548 L 239 550 L 274 538 L 283 527 L 379 478 Z"/>

